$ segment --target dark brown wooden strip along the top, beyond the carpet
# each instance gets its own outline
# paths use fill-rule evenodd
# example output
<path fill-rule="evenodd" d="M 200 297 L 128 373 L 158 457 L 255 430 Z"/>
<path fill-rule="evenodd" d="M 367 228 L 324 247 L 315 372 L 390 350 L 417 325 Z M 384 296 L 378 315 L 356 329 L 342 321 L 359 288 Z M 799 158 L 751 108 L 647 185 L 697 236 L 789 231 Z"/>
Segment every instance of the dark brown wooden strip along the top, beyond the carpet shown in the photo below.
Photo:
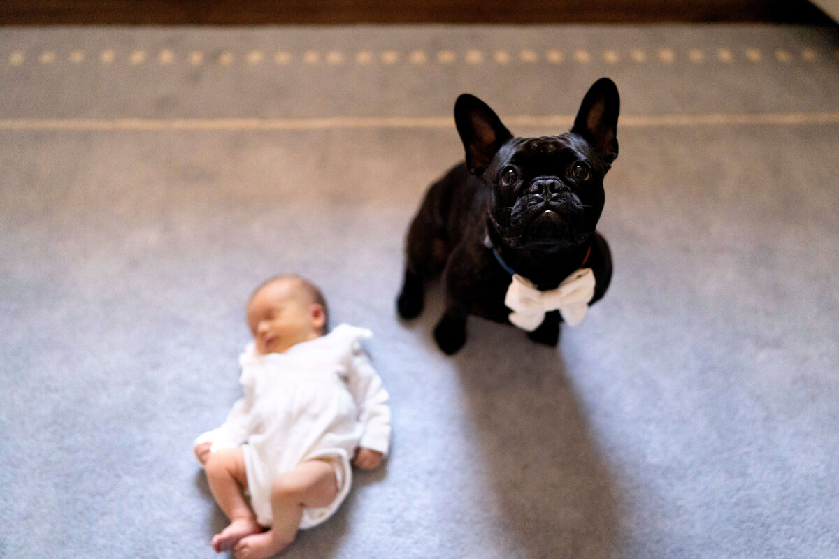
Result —
<path fill-rule="evenodd" d="M 2 0 L 0 25 L 817 23 L 803 0 Z"/>

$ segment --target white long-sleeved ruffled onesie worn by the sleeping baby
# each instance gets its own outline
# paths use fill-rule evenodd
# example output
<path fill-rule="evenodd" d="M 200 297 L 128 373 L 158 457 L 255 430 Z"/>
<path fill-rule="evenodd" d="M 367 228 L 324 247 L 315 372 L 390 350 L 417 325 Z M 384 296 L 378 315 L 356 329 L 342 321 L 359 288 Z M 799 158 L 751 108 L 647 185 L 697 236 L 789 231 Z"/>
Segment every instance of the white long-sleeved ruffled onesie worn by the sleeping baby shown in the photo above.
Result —
<path fill-rule="evenodd" d="M 388 453 L 388 392 L 361 347 L 372 335 L 341 324 L 284 353 L 260 355 L 251 342 L 239 357 L 244 396 L 195 444 L 210 441 L 211 452 L 241 446 L 260 525 L 271 525 L 271 484 L 279 474 L 314 458 L 335 465 L 338 494 L 329 506 L 304 510 L 300 528 L 310 528 L 347 497 L 357 448 Z"/>

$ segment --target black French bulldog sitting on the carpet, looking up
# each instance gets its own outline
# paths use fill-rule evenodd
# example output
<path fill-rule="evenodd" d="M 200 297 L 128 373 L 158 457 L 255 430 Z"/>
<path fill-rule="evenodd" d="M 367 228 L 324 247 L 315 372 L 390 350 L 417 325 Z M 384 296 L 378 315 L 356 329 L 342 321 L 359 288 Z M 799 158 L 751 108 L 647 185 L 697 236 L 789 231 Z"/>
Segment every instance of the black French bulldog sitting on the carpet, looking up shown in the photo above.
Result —
<path fill-rule="evenodd" d="M 521 138 L 477 97 L 458 97 L 455 122 L 466 163 L 430 187 L 410 225 L 399 314 L 420 314 L 425 282 L 442 272 L 446 312 L 434 335 L 451 355 L 466 341 L 470 314 L 521 322 L 505 304 L 515 275 L 539 290 L 536 298 L 576 290 L 576 311 L 547 306 L 543 314 L 537 308 L 525 317 L 529 324 L 519 323 L 531 339 L 555 345 L 560 322 L 580 319 L 612 278 L 612 256 L 595 228 L 603 176 L 618 157 L 619 111 L 618 88 L 601 78 L 583 98 L 571 132 Z M 588 283 L 575 286 L 570 279 Z"/>

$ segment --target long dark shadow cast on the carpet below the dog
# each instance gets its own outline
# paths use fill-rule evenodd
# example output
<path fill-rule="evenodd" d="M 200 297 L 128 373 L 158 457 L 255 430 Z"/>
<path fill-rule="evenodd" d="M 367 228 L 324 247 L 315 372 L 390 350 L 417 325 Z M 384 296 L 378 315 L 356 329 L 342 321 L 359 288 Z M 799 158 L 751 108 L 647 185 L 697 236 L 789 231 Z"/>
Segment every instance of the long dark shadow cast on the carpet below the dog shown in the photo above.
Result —
<path fill-rule="evenodd" d="M 454 360 L 477 459 L 502 505 L 498 525 L 518 539 L 518 556 L 612 556 L 612 480 L 560 349 L 470 318 L 469 339 Z"/>

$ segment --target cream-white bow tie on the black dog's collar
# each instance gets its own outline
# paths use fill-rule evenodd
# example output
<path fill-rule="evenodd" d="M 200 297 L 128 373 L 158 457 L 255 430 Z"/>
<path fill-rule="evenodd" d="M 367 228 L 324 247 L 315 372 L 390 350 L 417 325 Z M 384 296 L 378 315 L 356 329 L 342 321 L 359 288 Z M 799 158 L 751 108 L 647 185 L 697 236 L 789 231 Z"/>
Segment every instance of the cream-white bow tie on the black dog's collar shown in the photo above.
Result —
<path fill-rule="evenodd" d="M 513 312 L 510 322 L 520 329 L 533 332 L 545 320 L 545 313 L 559 310 L 569 326 L 576 326 L 586 316 L 588 303 L 594 297 L 594 272 L 580 268 L 566 277 L 560 287 L 539 291 L 527 278 L 513 274 L 504 304 Z"/>

